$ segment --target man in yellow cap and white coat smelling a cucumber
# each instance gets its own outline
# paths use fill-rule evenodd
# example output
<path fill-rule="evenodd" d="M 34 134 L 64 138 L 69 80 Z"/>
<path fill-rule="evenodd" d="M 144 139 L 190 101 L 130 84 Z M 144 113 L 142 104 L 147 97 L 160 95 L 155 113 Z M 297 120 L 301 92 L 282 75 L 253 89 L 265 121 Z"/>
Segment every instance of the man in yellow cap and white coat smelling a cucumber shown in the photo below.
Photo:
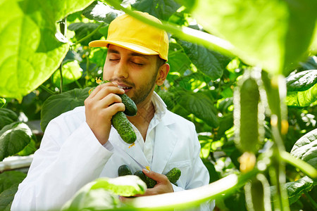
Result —
<path fill-rule="evenodd" d="M 147 13 L 137 13 L 161 23 Z M 123 164 L 132 172 L 143 169 L 157 181 L 145 196 L 208 184 L 194 124 L 170 113 L 154 92 L 169 71 L 166 32 L 121 15 L 109 25 L 106 41 L 89 45 L 108 47 L 104 79 L 111 82 L 94 89 L 85 106 L 51 120 L 15 194 L 12 210 L 58 209 L 88 182 L 118 177 L 118 167 Z M 123 93 L 138 109 L 137 115 L 128 117 L 137 134 L 132 147 L 111 127 L 112 116 L 125 110 L 117 95 Z M 182 172 L 178 186 L 163 175 L 173 167 Z M 206 204 L 201 210 L 212 210 L 212 206 Z"/>

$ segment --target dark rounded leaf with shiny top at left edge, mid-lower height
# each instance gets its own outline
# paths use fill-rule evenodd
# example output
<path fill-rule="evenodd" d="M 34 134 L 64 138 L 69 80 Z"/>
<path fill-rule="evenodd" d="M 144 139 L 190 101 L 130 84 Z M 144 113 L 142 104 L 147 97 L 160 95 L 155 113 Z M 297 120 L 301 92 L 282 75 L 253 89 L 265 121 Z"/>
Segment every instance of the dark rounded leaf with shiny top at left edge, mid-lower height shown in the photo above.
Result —
<path fill-rule="evenodd" d="M 15 155 L 30 143 L 32 131 L 23 122 L 13 122 L 0 130 L 0 161 Z"/>

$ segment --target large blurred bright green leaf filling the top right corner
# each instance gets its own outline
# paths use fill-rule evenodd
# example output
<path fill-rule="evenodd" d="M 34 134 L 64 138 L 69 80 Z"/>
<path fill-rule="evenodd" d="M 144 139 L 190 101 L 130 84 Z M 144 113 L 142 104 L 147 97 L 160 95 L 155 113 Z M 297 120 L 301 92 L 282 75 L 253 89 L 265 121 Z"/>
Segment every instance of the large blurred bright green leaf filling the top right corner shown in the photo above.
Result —
<path fill-rule="evenodd" d="M 317 1 L 197 0 L 193 15 L 205 30 L 230 41 L 245 63 L 288 75 L 308 50 Z"/>

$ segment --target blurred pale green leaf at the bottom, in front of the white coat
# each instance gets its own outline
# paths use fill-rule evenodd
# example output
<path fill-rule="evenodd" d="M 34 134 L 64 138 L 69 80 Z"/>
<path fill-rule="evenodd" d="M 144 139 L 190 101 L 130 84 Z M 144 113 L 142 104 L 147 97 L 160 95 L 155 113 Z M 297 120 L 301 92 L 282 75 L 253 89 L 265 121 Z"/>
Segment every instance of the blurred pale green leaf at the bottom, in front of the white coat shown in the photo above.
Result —
<path fill-rule="evenodd" d="M 120 196 L 143 194 L 147 185 L 135 175 L 116 178 L 99 178 L 82 187 L 63 210 L 113 210 L 121 207 Z"/>

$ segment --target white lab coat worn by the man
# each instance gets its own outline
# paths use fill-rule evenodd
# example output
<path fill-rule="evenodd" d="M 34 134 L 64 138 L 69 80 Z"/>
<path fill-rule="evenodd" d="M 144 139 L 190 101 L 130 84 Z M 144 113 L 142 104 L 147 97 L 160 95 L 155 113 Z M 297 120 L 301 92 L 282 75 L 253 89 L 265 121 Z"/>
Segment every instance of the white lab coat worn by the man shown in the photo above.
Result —
<path fill-rule="evenodd" d="M 85 122 L 85 107 L 63 113 L 46 127 L 11 210 L 60 209 L 90 181 L 118 177 L 118 167 L 123 164 L 132 172 L 149 166 L 160 174 L 178 167 L 182 175 L 178 186 L 173 185 L 174 191 L 209 184 L 209 173 L 199 158 L 200 145 L 194 124 L 168 110 L 155 128 L 151 163 L 137 141 L 135 146 L 128 147 L 113 128 L 108 143 L 101 146 Z M 201 205 L 201 210 L 213 210 L 213 202 Z"/>

